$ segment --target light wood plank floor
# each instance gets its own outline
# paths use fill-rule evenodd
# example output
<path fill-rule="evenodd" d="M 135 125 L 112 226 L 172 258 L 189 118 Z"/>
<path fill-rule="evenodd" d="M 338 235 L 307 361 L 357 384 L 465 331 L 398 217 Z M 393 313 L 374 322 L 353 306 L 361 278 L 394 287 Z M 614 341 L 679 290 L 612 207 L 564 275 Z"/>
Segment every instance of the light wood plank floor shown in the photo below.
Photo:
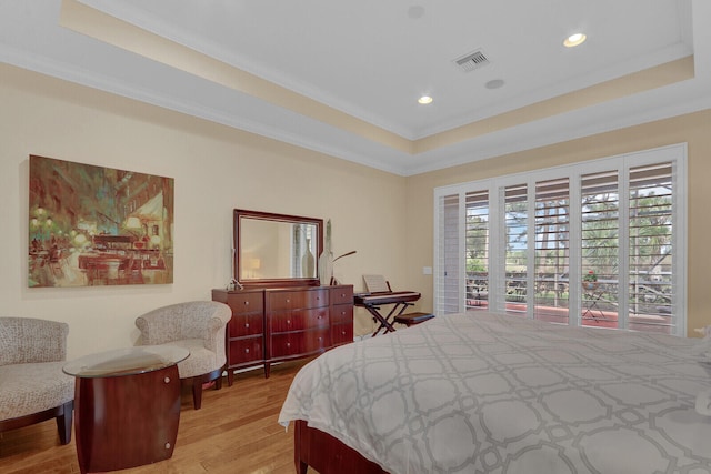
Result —
<path fill-rule="evenodd" d="M 293 474 L 293 428 L 277 423 L 291 380 L 304 361 L 237 374 L 234 384 L 203 392 L 202 409 L 182 393 L 173 456 L 121 474 Z M 79 473 L 74 434 L 59 444 L 53 420 L 0 433 L 0 473 Z M 312 473 L 313 471 L 309 471 Z"/>

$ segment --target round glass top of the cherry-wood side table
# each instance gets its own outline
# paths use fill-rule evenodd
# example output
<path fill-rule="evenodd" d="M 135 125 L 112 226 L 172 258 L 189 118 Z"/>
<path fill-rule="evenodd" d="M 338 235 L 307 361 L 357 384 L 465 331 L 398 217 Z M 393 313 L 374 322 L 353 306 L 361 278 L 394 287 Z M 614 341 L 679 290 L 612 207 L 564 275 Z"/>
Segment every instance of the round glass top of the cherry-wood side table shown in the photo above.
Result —
<path fill-rule="evenodd" d="M 63 371 L 78 377 L 108 377 L 159 371 L 181 362 L 190 351 L 174 345 L 138 345 L 90 354 L 68 362 Z"/>

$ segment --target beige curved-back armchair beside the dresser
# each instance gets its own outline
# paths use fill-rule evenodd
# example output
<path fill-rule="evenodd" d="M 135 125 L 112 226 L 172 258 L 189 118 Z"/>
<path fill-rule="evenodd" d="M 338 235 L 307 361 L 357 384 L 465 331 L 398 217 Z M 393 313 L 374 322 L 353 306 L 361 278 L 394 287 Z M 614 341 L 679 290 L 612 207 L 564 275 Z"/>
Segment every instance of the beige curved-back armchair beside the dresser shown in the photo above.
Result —
<path fill-rule="evenodd" d="M 141 331 L 138 345 L 172 344 L 186 347 L 190 356 L 178 364 L 180 382 L 192 385 L 196 410 L 202 405 L 202 384 L 222 386 L 227 362 L 224 331 L 232 317 L 230 306 L 216 301 L 191 301 L 159 307 L 136 319 Z"/>

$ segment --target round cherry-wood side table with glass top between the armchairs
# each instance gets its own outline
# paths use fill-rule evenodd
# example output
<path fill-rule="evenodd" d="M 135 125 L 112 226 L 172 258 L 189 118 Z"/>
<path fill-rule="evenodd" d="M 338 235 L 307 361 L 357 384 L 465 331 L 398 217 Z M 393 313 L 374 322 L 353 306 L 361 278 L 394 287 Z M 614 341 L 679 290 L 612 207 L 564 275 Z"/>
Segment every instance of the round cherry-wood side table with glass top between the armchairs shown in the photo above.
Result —
<path fill-rule="evenodd" d="M 180 421 L 182 347 L 146 345 L 64 365 L 74 384 L 74 438 L 81 473 L 117 471 L 172 456 Z"/>

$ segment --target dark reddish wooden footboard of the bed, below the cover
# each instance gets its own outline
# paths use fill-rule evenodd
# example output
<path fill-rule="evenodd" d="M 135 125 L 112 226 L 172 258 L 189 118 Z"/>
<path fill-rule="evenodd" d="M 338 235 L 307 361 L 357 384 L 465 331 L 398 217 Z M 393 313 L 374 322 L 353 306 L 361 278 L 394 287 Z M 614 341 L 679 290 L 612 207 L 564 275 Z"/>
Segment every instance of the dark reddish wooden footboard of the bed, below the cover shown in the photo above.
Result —
<path fill-rule="evenodd" d="M 307 474 L 309 466 L 319 474 L 388 474 L 330 434 L 307 426 L 297 420 L 293 431 L 293 455 L 297 474 Z"/>

